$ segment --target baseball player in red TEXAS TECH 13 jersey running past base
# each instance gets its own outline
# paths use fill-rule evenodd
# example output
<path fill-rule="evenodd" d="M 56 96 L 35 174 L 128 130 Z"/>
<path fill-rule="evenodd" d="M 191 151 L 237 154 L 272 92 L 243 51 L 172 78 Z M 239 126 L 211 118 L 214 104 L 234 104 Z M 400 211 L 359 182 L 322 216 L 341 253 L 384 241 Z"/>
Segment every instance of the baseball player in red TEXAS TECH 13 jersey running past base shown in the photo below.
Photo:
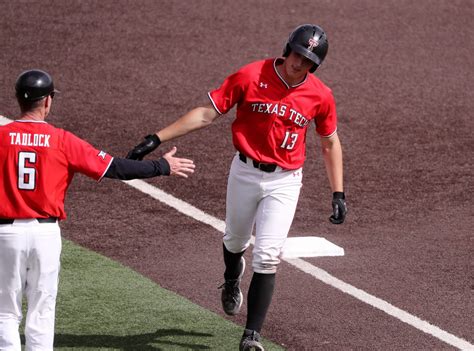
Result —
<path fill-rule="evenodd" d="M 242 305 L 240 280 L 245 269 L 243 254 L 255 227 L 253 276 L 247 295 L 247 322 L 240 350 L 263 350 L 260 331 L 273 296 L 279 255 L 293 221 L 306 133 L 320 136 L 327 176 L 332 189 L 330 221 L 344 222 L 347 208 L 343 189 L 342 149 L 331 90 L 313 73 L 328 50 L 319 26 L 298 26 L 289 36 L 283 57 L 250 63 L 228 76 L 209 92 L 210 103 L 197 107 L 132 149 L 127 157 L 141 159 L 160 143 L 211 124 L 237 106 L 232 124 L 237 150 L 230 168 L 222 306 L 235 315 Z"/>

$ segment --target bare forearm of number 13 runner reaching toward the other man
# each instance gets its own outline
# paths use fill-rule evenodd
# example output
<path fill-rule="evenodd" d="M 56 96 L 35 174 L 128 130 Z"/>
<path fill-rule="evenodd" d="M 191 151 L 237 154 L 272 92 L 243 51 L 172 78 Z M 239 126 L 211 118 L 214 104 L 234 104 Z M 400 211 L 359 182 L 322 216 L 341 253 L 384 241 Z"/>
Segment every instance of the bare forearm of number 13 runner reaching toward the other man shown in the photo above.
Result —
<path fill-rule="evenodd" d="M 172 140 L 207 127 L 217 116 L 218 114 L 212 106 L 196 107 L 156 134 L 161 142 Z"/>

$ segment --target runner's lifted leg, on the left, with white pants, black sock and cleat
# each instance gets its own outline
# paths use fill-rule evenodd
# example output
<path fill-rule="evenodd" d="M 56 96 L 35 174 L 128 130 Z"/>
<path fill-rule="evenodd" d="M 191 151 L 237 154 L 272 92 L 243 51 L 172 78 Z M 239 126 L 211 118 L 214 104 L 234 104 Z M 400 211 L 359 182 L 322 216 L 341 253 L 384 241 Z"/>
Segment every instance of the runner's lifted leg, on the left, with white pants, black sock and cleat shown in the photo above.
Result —
<path fill-rule="evenodd" d="M 223 238 L 225 283 L 221 286 L 222 307 L 229 315 L 239 313 L 242 305 L 240 280 L 245 269 L 242 256 L 250 245 L 257 203 L 261 196 L 259 172 L 234 157 L 229 173 Z"/>

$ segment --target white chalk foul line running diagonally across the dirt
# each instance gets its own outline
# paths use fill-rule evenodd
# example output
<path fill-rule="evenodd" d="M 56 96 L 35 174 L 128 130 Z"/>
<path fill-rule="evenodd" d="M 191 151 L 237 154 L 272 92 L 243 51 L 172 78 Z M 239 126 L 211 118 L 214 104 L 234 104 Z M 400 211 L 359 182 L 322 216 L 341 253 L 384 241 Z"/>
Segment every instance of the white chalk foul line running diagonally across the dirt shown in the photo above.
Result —
<path fill-rule="evenodd" d="M 11 122 L 11 120 L 0 116 L 0 125 L 7 124 Z M 200 209 L 175 198 L 174 196 L 165 193 L 164 191 L 150 185 L 142 180 L 130 180 L 130 181 L 123 181 L 125 184 L 130 185 L 131 187 L 140 190 L 141 192 L 157 199 L 164 204 L 176 209 L 177 211 L 194 218 L 197 221 L 202 223 L 208 224 L 211 227 L 215 228 L 219 232 L 224 232 L 225 223 L 215 218 L 207 213 L 201 211 Z M 252 237 L 252 244 L 254 244 L 255 238 Z M 398 307 L 393 306 L 392 304 L 374 296 L 371 294 L 366 293 L 365 291 L 358 289 L 344 281 L 330 275 L 328 272 L 313 266 L 312 264 L 302 260 L 302 259 L 285 259 L 282 258 L 285 262 L 288 262 L 292 266 L 300 269 L 301 271 L 313 276 L 314 278 L 348 294 L 356 299 L 365 302 L 366 304 L 375 307 L 390 316 L 393 316 L 402 322 L 411 325 L 412 327 L 421 330 L 427 334 L 434 336 L 435 338 L 451 345 L 454 347 L 459 348 L 460 350 L 474 350 L 474 345 L 469 343 L 468 341 L 459 338 L 453 334 L 450 334 L 437 326 L 430 324 L 416 316 L 405 312 Z"/>

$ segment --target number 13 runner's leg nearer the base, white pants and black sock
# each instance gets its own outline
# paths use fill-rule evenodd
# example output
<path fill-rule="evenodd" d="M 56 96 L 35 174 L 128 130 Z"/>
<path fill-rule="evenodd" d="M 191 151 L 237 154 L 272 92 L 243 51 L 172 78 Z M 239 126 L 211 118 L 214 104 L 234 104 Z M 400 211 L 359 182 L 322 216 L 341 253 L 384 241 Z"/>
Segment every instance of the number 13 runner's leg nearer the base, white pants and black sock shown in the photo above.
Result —
<path fill-rule="evenodd" d="M 265 196 L 257 210 L 254 274 L 247 296 L 247 322 L 243 340 L 249 334 L 250 338 L 255 338 L 251 333 L 260 333 L 263 326 L 273 297 L 279 256 L 298 203 L 301 172 L 284 172 L 280 176 L 280 179 L 266 183 Z M 279 175 L 275 174 L 275 177 Z"/>

